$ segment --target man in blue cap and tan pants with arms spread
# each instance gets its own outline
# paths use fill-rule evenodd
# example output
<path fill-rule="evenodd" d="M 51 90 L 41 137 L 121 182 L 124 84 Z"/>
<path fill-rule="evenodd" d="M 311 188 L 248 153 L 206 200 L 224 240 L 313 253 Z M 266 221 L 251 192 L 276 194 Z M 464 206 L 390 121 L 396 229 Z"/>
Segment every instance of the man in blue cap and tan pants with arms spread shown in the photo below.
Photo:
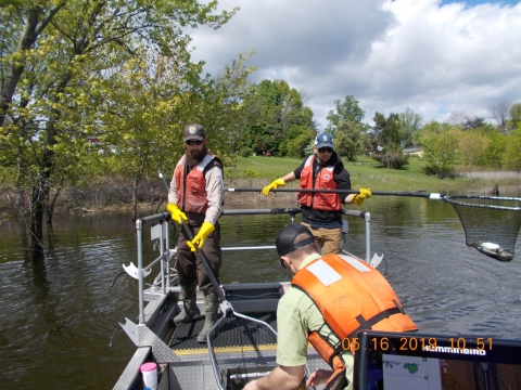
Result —
<path fill-rule="evenodd" d="M 305 190 L 351 190 L 350 173 L 345 170 L 339 155 L 333 151 L 333 138 L 320 133 L 315 139 L 315 154 L 309 156 L 294 171 L 275 180 L 263 188 L 268 195 L 271 190 L 285 183 L 300 180 L 300 188 Z M 371 190 L 360 188 L 359 194 L 310 193 L 297 194 L 302 208 L 302 224 L 309 227 L 321 247 L 322 255 L 339 253 L 342 240 L 342 204 L 360 206 L 371 196 Z"/>

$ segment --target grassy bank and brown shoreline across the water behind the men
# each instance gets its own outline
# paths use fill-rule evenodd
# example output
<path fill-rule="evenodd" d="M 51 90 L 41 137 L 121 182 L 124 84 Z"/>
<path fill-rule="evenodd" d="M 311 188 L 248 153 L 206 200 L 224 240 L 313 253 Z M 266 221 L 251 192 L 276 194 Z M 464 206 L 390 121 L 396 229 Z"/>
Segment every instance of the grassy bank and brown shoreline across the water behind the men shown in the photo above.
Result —
<path fill-rule="evenodd" d="M 294 170 L 302 162 L 301 159 L 283 157 L 239 157 L 234 167 L 225 167 L 226 188 L 262 188 L 272 180 L 280 178 Z M 344 160 L 345 168 L 351 174 L 354 190 L 366 187 L 372 191 L 425 191 L 428 193 L 440 192 L 444 194 L 468 194 L 483 188 L 492 190 L 496 183 L 521 184 L 520 172 L 504 171 L 476 171 L 472 176 L 461 174 L 455 179 L 439 179 L 428 177 L 421 172 L 424 160 L 410 158 L 406 170 L 379 168 L 370 157 L 361 157 L 356 164 Z M 169 177 L 171 173 L 166 173 Z M 296 187 L 295 181 L 287 187 Z M 486 190 L 485 190 L 486 191 Z M 88 187 L 66 187 L 56 203 L 55 213 L 71 212 L 98 212 L 98 211 L 123 211 L 131 210 L 132 183 L 124 178 L 106 177 L 99 178 L 96 185 Z M 28 204 L 29 193 L 25 204 Z M 0 221 L 10 218 L 24 218 L 27 216 L 26 207 L 18 208 L 15 203 L 16 194 L 10 191 L 0 191 Z M 138 186 L 139 213 L 151 214 L 163 210 L 166 197 L 161 183 L 151 179 Z M 264 196 L 259 192 L 225 193 L 225 207 L 238 205 L 242 208 L 265 208 L 270 204 L 284 203 L 296 207 L 295 193 L 277 193 Z"/>

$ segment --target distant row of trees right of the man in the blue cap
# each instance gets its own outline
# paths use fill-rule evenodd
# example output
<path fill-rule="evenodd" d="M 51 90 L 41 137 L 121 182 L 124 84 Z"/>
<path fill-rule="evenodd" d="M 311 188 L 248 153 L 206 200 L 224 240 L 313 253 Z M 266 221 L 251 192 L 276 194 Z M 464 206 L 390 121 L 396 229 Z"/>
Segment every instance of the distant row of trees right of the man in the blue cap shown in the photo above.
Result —
<path fill-rule="evenodd" d="M 403 151 L 417 146 L 425 158 L 425 174 L 440 178 L 455 173 L 456 167 L 521 169 L 521 104 L 500 102 L 491 107 L 497 125 L 482 117 L 454 113 L 448 122 L 423 123 L 410 108 L 386 117 L 376 113 L 373 125 L 363 121 L 365 112 L 353 96 L 336 101 L 328 116 L 328 131 L 335 136 L 335 148 L 348 160 L 371 154 L 387 168 L 405 168 Z"/>

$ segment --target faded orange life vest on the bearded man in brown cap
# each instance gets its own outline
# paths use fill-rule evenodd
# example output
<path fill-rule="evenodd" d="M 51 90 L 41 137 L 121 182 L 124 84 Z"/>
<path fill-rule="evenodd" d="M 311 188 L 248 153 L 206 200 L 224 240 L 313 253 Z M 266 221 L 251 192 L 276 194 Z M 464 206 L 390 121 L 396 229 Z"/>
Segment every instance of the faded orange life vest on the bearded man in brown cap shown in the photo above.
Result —
<path fill-rule="evenodd" d="M 185 178 L 185 161 L 187 156 L 182 156 L 177 162 L 174 176 L 177 183 L 177 195 L 179 197 L 179 208 L 185 212 L 205 213 L 208 208 L 206 198 L 206 180 L 204 179 L 204 169 L 215 158 L 211 153 L 204 156 L 203 160 Z"/>

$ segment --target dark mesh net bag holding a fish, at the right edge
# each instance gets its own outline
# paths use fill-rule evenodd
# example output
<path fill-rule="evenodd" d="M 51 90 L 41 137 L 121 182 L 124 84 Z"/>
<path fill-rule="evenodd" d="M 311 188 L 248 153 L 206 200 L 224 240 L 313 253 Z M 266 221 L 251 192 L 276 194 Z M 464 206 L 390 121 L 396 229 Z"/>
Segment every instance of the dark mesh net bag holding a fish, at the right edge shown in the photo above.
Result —
<path fill-rule="evenodd" d="M 499 261 L 510 261 L 521 227 L 521 198 L 444 196 L 463 225 L 467 246 Z"/>

